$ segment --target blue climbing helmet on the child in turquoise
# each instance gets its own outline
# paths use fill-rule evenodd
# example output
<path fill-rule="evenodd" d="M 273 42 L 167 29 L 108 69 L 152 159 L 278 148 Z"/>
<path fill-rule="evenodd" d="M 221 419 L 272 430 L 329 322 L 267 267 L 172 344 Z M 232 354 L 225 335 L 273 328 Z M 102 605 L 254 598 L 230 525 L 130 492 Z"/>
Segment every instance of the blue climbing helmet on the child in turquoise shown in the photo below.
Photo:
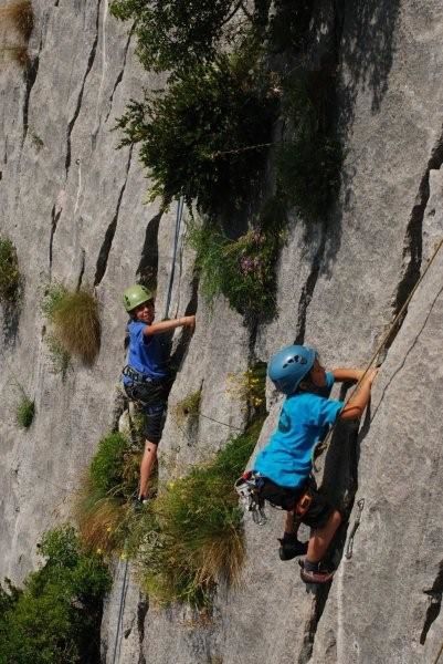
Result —
<path fill-rule="evenodd" d="M 309 346 L 285 346 L 271 357 L 267 375 L 278 392 L 292 394 L 313 369 L 316 356 Z"/>

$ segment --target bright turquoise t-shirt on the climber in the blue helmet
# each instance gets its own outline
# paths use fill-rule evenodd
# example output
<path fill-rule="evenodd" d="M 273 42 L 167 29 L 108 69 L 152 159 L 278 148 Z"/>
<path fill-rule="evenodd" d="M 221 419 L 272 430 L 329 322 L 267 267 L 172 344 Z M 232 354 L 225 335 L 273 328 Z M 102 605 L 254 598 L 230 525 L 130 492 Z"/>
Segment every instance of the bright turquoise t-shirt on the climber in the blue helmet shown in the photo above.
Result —
<path fill-rule="evenodd" d="M 300 487 L 313 467 L 313 449 L 337 419 L 345 403 L 327 398 L 334 375 L 326 374 L 324 395 L 299 392 L 286 397 L 278 426 L 257 454 L 254 470 L 282 487 Z"/>

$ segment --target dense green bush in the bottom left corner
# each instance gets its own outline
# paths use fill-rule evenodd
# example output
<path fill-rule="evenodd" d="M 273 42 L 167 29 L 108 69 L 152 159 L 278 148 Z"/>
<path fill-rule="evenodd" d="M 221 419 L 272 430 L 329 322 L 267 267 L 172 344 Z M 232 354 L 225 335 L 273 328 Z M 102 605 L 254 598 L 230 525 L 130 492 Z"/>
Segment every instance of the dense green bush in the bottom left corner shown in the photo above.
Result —
<path fill-rule="evenodd" d="M 0 662 L 93 664 L 99 660 L 103 596 L 110 575 L 101 557 L 82 550 L 73 528 L 46 533 L 44 566 L 23 590 L 0 589 Z"/>

